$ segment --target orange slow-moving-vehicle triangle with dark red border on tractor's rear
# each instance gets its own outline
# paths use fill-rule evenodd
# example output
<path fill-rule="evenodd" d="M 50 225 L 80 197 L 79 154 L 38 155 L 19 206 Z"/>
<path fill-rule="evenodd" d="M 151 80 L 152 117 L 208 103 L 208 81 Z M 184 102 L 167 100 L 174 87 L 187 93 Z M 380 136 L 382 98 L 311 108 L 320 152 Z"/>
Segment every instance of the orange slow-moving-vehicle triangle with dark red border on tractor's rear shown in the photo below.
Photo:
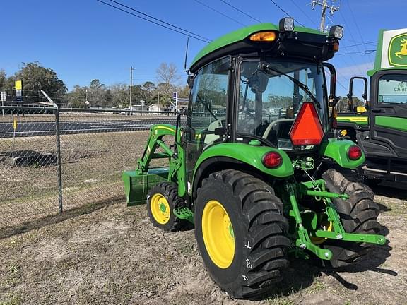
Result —
<path fill-rule="evenodd" d="M 315 105 L 304 102 L 290 130 L 293 145 L 319 145 L 324 137 Z"/>

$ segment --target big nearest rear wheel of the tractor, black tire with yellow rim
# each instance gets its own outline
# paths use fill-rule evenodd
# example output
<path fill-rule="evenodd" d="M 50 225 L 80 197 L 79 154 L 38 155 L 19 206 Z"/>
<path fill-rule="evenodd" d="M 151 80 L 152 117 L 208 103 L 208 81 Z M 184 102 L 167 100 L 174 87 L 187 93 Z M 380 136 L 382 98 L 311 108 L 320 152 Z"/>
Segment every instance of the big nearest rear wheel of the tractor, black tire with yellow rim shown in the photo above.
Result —
<path fill-rule="evenodd" d="M 195 236 L 212 280 L 231 297 L 254 299 L 288 267 L 283 204 L 268 184 L 236 170 L 211 174 L 195 205 Z"/>

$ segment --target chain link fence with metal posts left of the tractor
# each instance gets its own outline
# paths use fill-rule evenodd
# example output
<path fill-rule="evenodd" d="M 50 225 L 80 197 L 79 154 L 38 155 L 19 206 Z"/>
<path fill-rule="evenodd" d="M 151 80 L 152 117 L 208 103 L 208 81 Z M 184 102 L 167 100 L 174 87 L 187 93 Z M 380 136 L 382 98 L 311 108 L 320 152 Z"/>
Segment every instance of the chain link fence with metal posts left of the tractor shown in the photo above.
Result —
<path fill-rule="evenodd" d="M 177 119 L 174 112 L 1 110 L 0 236 L 62 210 L 124 201 L 122 172 L 136 167 L 149 128 Z"/>

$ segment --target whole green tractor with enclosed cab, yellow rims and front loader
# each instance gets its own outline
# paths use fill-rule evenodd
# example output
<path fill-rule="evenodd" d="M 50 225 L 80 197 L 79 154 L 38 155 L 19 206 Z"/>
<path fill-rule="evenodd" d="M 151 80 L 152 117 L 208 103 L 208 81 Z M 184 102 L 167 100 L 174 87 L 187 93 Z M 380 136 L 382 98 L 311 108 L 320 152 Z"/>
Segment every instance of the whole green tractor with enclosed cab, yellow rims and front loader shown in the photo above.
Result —
<path fill-rule="evenodd" d="M 341 268 L 386 242 L 354 172 L 365 155 L 331 132 L 326 61 L 342 35 L 283 18 L 214 40 L 191 64 L 187 112 L 152 126 L 123 174 L 128 205 L 146 203 L 154 226 L 194 224 L 208 274 L 231 297 L 264 295 L 289 256 Z M 160 158 L 168 165 L 152 167 Z"/>

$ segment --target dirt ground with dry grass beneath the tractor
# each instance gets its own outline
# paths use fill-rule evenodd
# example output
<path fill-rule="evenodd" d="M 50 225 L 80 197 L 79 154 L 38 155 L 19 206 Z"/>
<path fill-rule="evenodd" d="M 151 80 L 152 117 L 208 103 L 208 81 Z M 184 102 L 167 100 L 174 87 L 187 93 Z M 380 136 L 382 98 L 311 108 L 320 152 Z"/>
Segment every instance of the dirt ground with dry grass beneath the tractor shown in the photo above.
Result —
<path fill-rule="evenodd" d="M 208 277 L 194 231 L 160 231 L 145 205 L 79 211 L 0 239 L 0 304 L 407 304 L 407 196 L 398 192 L 375 198 L 387 246 L 341 272 L 293 259 L 262 301 L 228 297 Z"/>

